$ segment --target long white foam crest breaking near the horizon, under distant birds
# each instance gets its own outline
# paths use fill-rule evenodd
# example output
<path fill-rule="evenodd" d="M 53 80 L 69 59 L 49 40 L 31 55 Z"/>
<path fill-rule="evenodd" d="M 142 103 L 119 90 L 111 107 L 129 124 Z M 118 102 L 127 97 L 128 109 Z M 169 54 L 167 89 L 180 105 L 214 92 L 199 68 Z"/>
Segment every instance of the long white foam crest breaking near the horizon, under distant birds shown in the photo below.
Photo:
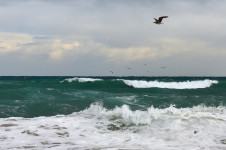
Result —
<path fill-rule="evenodd" d="M 122 80 L 125 84 L 134 88 L 168 88 L 168 89 L 198 89 L 207 88 L 212 84 L 217 84 L 216 80 L 199 80 L 184 82 L 159 82 L 143 80 Z"/>

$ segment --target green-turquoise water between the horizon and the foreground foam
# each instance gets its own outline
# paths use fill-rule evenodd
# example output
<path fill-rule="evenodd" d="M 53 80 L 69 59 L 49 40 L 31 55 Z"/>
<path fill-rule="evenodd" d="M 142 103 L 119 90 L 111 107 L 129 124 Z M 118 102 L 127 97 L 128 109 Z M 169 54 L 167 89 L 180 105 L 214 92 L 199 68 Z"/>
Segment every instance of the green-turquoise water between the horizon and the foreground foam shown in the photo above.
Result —
<path fill-rule="evenodd" d="M 84 81 L 80 81 L 83 78 Z M 124 80 L 137 81 L 141 87 L 128 85 Z M 218 83 L 211 83 L 210 87 L 205 87 L 205 80 Z M 144 83 L 139 83 L 141 81 Z M 186 87 L 188 81 L 191 87 Z M 155 82 L 153 84 L 156 87 L 145 87 L 145 84 L 151 84 L 150 82 Z M 177 85 L 173 87 L 174 82 Z M 164 83 L 171 85 L 157 87 Z M 199 88 L 197 85 L 204 87 Z M 175 89 L 177 87 L 182 89 Z M 226 78 L 0 77 L 1 118 L 71 114 L 88 108 L 94 102 L 101 102 L 107 109 L 126 104 L 132 110 L 146 110 L 151 106 L 167 108 L 170 105 L 175 105 L 176 108 L 197 105 L 225 106 Z"/>

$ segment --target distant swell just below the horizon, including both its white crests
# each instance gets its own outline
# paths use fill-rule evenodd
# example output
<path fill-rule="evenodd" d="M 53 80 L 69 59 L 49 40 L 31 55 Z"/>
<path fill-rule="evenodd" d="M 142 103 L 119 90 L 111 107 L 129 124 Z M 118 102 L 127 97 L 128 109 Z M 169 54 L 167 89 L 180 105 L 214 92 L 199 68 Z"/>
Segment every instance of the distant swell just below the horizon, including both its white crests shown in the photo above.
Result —
<path fill-rule="evenodd" d="M 62 82 L 77 82 L 76 85 L 90 84 L 92 87 L 133 87 L 133 88 L 167 88 L 167 89 L 200 89 L 209 88 L 213 84 L 218 84 L 217 80 L 187 80 L 187 81 L 158 81 L 158 80 L 128 80 L 128 79 L 98 79 L 98 78 L 68 78 Z M 81 84 L 83 83 L 83 84 Z M 91 86 L 90 86 L 91 87 Z M 116 87 L 115 87 L 116 88 Z"/>

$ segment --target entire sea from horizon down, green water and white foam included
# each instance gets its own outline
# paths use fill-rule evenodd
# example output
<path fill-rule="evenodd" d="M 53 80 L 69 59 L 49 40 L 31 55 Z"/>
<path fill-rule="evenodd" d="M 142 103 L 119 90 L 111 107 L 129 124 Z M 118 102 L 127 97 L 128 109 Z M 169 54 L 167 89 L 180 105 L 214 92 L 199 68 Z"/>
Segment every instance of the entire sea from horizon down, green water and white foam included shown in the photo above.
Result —
<path fill-rule="evenodd" d="M 0 150 L 225 150 L 224 77 L 0 77 Z"/>

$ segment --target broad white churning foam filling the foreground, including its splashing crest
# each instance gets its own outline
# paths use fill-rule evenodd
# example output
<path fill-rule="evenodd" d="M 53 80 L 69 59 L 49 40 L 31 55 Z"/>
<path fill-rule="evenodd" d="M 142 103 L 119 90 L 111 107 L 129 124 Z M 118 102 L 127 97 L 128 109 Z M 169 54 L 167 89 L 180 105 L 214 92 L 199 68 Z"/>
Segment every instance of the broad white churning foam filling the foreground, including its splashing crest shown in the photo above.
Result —
<path fill-rule="evenodd" d="M 100 104 L 71 115 L 1 118 L 0 149 L 226 149 L 226 108 Z"/>

